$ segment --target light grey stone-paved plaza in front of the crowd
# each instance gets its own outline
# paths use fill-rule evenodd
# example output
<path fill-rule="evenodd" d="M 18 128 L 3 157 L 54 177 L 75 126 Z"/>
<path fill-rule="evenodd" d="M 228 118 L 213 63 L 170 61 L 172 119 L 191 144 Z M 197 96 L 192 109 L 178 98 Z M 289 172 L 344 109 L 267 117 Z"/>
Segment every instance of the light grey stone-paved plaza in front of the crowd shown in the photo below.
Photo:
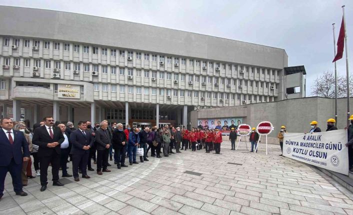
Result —
<path fill-rule="evenodd" d="M 64 187 L 49 182 L 44 192 L 36 177 L 23 189 L 27 197 L 14 195 L 8 176 L 0 214 L 353 214 L 349 192 L 310 166 L 278 156 L 279 145 L 268 149 L 267 156 L 264 145 L 258 154 L 246 152 L 244 145 L 230 151 L 226 141 L 221 155 L 188 150 L 168 158 L 149 157 L 149 162 L 121 170 L 112 165 L 101 176 L 88 171 L 91 178 L 78 183 L 61 179 Z"/>

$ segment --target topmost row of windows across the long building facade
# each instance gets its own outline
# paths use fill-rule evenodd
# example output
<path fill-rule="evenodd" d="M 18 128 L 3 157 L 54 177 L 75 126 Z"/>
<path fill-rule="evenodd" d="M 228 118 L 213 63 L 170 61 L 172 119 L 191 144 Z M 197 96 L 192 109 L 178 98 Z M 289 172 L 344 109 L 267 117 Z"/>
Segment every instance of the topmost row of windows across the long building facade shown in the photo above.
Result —
<path fill-rule="evenodd" d="M 14 39 L 13 40 L 14 45 L 19 46 L 19 39 Z M 8 46 L 9 45 L 9 38 L 4 38 L 4 42 L 3 42 L 4 46 Z M 40 47 L 40 41 L 39 40 L 33 40 L 33 46 L 39 48 Z M 79 46 L 77 44 L 73 45 L 73 51 L 74 52 L 79 52 Z M 29 47 L 29 39 L 25 39 L 24 40 L 24 47 Z M 49 41 L 44 41 L 44 49 L 50 49 L 50 42 Z M 53 49 L 54 50 L 60 50 L 60 43 L 59 42 L 54 42 L 53 44 Z M 63 50 L 64 51 L 70 51 L 70 44 L 69 43 L 63 43 Z M 107 48 L 100 48 L 100 53 L 101 55 L 107 55 Z M 89 53 L 89 46 L 88 45 L 83 45 L 83 53 Z M 99 53 L 99 48 L 97 46 L 92 46 L 92 54 L 98 54 Z M 151 56 L 151 60 L 152 61 L 157 61 L 158 55 L 157 54 L 149 54 L 149 53 L 144 53 L 144 60 L 149 60 L 149 57 Z M 110 56 L 116 56 L 116 49 L 110 49 Z M 119 57 L 125 57 L 125 51 L 124 50 L 119 50 Z M 135 57 L 136 59 L 141 59 L 142 58 L 142 54 L 141 52 L 135 52 L 135 54 L 133 53 L 133 51 L 127 51 L 127 57 L 133 58 Z M 180 59 L 180 60 L 179 60 Z M 159 55 L 159 61 L 160 62 L 165 62 L 165 57 L 164 55 Z M 167 63 L 172 63 L 172 57 L 171 56 L 166 56 L 166 62 Z M 179 57 L 174 57 L 174 63 L 181 63 L 181 65 L 185 65 L 186 64 L 186 59 L 185 58 L 179 58 Z M 202 60 L 193 60 L 193 59 L 189 59 L 189 66 L 198 66 L 200 67 L 202 65 L 202 67 L 207 67 L 207 61 L 202 61 Z M 213 68 L 213 66 L 221 68 L 221 69 L 225 69 L 226 66 L 225 63 L 220 63 L 220 62 L 208 62 L 208 67 Z M 232 64 L 228 64 L 228 70 L 232 70 L 234 69 L 235 71 L 237 71 L 238 65 L 233 65 Z M 244 70 L 246 72 L 250 72 L 251 73 L 265 73 L 265 68 L 254 68 L 254 67 L 249 67 L 249 66 L 243 66 L 243 65 L 239 65 L 239 69 L 240 70 Z M 271 70 L 272 75 L 274 75 L 275 70 Z M 267 75 L 269 75 L 270 73 L 270 69 L 267 69 Z M 278 75 L 278 74 L 277 74 Z"/>

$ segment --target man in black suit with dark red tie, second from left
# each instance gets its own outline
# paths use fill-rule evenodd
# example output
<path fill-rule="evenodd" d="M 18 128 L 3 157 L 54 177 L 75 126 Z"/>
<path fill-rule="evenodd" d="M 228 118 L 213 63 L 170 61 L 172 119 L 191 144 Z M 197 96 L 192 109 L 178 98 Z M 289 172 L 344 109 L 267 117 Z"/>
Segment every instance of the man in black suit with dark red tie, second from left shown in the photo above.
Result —
<path fill-rule="evenodd" d="M 39 146 L 40 191 L 46 190 L 48 166 L 51 164 L 52 185 L 63 186 L 59 182 L 60 144 L 65 140 L 58 127 L 53 126 L 51 116 L 43 118 L 44 126 L 35 129 L 32 143 Z"/>

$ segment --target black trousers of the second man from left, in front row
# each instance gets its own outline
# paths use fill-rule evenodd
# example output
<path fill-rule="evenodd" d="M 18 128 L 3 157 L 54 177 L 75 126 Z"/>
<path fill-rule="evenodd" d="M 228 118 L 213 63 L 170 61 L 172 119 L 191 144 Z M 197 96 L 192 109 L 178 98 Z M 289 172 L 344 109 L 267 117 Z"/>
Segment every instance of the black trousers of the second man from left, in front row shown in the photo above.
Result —
<path fill-rule="evenodd" d="M 57 182 L 59 180 L 60 155 L 56 154 L 55 150 L 52 150 L 50 156 L 39 157 L 40 185 L 42 186 L 48 184 L 49 164 L 51 164 L 52 181 Z"/>

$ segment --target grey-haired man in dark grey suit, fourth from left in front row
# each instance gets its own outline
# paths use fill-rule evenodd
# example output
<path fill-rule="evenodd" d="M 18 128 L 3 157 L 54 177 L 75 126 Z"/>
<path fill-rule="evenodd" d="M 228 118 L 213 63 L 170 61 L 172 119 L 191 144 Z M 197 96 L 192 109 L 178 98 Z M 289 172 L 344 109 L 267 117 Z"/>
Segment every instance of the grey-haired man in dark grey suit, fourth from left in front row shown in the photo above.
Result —
<path fill-rule="evenodd" d="M 102 172 L 110 172 L 106 169 L 108 166 L 109 148 L 111 146 L 110 134 L 107 130 L 108 123 L 102 121 L 99 124 L 99 129 L 95 131 L 95 146 L 97 148 L 97 174 L 102 175 Z M 100 170 L 103 167 L 103 171 Z"/>

